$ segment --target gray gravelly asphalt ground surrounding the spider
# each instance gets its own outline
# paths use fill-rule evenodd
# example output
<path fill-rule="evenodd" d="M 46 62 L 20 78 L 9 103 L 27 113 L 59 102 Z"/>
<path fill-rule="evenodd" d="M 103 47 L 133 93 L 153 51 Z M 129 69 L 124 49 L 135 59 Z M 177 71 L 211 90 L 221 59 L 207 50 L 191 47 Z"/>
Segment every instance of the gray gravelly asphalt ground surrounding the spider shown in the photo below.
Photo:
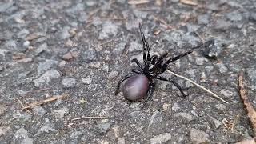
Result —
<path fill-rule="evenodd" d="M 191 5 L 192 4 L 192 5 Z M 180 78 L 189 94 L 157 82 L 153 98 L 127 103 L 114 95 L 120 78 L 142 60 L 138 23 L 155 54 L 230 104 Z M 0 2 L 1 143 L 228 143 L 253 135 L 238 95 L 238 72 L 256 106 L 256 2 L 156 0 L 2 0 Z M 164 74 L 172 77 L 170 74 Z M 24 105 L 69 95 L 30 110 Z M 107 119 L 82 119 L 83 116 Z"/>

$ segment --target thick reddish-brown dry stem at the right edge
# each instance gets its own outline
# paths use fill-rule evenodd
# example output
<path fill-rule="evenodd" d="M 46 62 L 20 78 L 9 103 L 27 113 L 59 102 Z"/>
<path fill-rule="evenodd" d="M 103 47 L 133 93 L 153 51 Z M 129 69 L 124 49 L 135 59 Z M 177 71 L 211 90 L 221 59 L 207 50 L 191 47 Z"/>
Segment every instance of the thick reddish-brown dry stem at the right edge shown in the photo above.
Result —
<path fill-rule="evenodd" d="M 254 107 L 250 104 L 248 97 L 245 92 L 245 87 L 243 85 L 243 71 L 241 70 L 238 77 L 239 82 L 239 91 L 240 91 L 240 97 L 242 98 L 243 104 L 246 106 L 247 115 L 250 119 L 250 122 L 253 126 L 254 130 L 254 136 L 256 136 L 256 111 L 254 110 Z"/>

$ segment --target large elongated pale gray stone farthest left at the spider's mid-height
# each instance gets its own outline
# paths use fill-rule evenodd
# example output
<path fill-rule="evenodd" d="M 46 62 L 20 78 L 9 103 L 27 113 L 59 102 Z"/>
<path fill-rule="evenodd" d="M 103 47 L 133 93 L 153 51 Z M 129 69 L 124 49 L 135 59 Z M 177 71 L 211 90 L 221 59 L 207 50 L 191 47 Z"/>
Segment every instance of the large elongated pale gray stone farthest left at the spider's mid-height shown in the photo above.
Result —
<path fill-rule="evenodd" d="M 34 86 L 42 87 L 42 86 L 50 86 L 50 82 L 53 78 L 60 78 L 61 75 L 57 70 L 48 70 L 46 73 L 42 74 L 41 77 L 35 79 Z"/>

